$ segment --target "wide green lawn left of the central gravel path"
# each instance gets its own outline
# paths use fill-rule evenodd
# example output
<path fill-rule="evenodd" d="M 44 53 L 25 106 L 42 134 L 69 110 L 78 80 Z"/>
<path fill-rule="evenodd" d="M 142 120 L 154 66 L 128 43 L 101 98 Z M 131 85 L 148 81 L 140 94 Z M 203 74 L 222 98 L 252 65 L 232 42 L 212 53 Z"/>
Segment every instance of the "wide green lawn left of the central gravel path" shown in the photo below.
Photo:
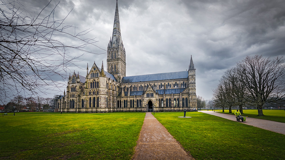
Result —
<path fill-rule="evenodd" d="M 145 113 L 8 113 L 0 159 L 131 159 Z"/>

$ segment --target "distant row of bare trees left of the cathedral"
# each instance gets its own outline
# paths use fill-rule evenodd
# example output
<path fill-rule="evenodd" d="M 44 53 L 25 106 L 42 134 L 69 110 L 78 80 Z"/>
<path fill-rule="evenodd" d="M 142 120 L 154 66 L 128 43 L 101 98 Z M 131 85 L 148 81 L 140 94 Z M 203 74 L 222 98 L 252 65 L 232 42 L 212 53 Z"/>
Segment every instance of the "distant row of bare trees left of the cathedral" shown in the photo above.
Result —
<path fill-rule="evenodd" d="M 35 111 L 42 109 L 49 109 L 50 100 L 52 98 L 37 97 L 23 97 L 22 95 L 17 95 L 9 103 L 4 105 L 5 112 L 13 111 Z"/>

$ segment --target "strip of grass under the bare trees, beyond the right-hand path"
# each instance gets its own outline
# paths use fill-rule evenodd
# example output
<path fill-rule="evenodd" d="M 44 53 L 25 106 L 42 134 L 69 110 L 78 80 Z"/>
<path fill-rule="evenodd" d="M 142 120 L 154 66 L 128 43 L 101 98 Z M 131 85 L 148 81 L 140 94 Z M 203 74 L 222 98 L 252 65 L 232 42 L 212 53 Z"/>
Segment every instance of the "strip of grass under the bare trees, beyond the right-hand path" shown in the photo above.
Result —
<path fill-rule="evenodd" d="M 219 113 L 225 113 L 225 114 L 231 114 L 231 115 L 235 115 L 235 111 L 237 109 L 232 109 L 233 113 L 229 113 L 229 110 L 225 110 L 225 112 L 219 112 Z M 216 112 L 219 110 L 216 110 Z M 251 118 L 257 118 L 257 119 L 265 119 L 265 120 L 272 120 L 272 121 L 276 121 L 276 122 L 282 122 L 285 123 L 285 111 L 283 110 L 269 110 L 269 109 L 263 109 L 263 114 L 264 116 L 257 116 L 258 112 L 257 109 L 247 109 L 244 110 L 243 109 L 243 113 L 242 116 L 247 116 L 247 117 L 251 117 Z"/>

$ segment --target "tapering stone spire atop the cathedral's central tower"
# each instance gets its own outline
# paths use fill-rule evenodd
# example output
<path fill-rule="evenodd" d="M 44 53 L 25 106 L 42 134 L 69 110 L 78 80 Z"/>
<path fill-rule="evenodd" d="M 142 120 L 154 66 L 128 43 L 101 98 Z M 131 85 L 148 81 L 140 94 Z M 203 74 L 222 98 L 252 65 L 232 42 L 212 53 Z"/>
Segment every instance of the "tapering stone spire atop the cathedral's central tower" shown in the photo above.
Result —
<path fill-rule="evenodd" d="M 122 43 L 122 38 L 121 38 L 120 19 L 119 19 L 119 10 L 118 10 L 118 1 L 117 1 L 113 36 L 112 36 L 112 42 L 110 43 L 110 47 L 119 47 L 121 43 Z"/>

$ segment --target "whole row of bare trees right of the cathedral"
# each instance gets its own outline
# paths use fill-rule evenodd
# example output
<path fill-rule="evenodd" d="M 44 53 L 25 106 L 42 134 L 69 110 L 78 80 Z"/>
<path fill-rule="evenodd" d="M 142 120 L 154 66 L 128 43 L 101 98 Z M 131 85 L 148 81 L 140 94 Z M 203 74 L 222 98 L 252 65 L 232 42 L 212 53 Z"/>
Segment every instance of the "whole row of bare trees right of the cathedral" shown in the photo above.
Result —
<path fill-rule="evenodd" d="M 285 99 L 285 64 L 283 57 L 247 56 L 233 68 L 227 69 L 213 90 L 215 106 L 229 108 L 254 106 L 263 116 L 266 103 L 281 104 Z"/>

